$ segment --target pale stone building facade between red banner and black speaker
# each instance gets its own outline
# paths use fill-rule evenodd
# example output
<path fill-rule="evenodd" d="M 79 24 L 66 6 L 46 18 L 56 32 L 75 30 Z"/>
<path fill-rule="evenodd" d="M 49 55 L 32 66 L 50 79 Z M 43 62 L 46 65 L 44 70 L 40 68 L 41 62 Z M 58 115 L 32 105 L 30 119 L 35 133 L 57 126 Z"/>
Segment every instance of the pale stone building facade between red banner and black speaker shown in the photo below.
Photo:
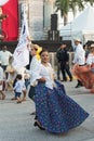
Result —
<path fill-rule="evenodd" d="M 19 21 L 22 21 L 22 5 L 25 4 L 29 34 L 32 40 L 45 40 L 48 38 L 51 14 L 54 13 L 54 2 L 55 0 L 18 0 Z"/>

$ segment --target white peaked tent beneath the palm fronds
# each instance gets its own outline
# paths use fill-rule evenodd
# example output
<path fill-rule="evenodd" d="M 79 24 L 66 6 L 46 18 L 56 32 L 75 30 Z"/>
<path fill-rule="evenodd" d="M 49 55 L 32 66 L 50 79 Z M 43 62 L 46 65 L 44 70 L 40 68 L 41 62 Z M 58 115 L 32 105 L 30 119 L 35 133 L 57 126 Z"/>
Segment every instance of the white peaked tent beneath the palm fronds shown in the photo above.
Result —
<path fill-rule="evenodd" d="M 72 23 L 59 27 L 63 39 L 94 40 L 94 8 L 86 8 Z"/>

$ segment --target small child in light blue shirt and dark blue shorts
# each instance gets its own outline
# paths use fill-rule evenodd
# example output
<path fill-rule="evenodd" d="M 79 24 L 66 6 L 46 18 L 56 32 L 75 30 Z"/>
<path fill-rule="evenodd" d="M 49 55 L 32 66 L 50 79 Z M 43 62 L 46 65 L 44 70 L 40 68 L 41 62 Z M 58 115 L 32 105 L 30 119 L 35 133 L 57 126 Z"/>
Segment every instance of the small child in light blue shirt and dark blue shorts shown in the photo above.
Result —
<path fill-rule="evenodd" d="M 13 90 L 15 92 L 15 97 L 12 100 L 17 100 L 17 103 L 22 103 L 21 94 L 23 92 L 23 88 L 25 88 L 25 82 L 22 80 L 22 75 L 18 74 L 16 76 L 16 82 L 13 87 Z"/>

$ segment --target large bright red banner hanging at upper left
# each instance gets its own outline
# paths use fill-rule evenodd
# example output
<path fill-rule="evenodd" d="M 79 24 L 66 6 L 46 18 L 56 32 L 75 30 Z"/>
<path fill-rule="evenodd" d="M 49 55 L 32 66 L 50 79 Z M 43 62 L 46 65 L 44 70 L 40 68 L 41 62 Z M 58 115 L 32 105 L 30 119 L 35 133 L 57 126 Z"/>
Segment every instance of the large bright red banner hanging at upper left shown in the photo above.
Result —
<path fill-rule="evenodd" d="M 5 33 L 5 41 L 17 40 L 18 38 L 18 0 L 9 0 L 2 7 L 2 13 L 8 17 L 2 21 L 2 30 Z"/>

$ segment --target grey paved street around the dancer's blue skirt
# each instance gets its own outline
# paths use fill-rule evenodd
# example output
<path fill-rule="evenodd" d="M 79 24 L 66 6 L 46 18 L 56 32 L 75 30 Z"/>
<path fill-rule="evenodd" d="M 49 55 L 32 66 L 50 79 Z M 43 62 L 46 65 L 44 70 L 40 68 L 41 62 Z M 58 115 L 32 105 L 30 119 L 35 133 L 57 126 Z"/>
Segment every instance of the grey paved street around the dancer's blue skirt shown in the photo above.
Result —
<path fill-rule="evenodd" d="M 35 104 L 27 98 L 22 104 L 11 101 L 13 93 L 0 100 L 0 141 L 94 141 L 94 94 L 85 88 L 76 89 L 77 81 L 64 82 L 67 94 L 89 113 L 90 117 L 78 128 L 64 134 L 53 134 L 33 127 Z"/>

